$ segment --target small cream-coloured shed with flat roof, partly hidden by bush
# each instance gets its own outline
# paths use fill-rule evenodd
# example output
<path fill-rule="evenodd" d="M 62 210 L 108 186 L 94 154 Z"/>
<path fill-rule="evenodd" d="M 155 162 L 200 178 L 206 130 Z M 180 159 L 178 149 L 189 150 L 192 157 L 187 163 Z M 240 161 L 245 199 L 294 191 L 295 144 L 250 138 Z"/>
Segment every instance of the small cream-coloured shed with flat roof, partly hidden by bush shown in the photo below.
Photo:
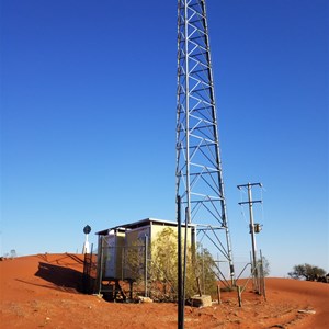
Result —
<path fill-rule="evenodd" d="M 99 286 L 103 281 L 134 281 L 146 272 L 147 246 L 157 238 L 164 228 L 178 231 L 178 223 L 145 218 L 138 222 L 111 227 L 98 231 L 98 277 Z M 182 236 L 184 236 L 182 226 Z M 189 224 L 188 243 L 195 246 L 196 226 Z M 133 256 L 133 257 L 132 257 Z"/>

